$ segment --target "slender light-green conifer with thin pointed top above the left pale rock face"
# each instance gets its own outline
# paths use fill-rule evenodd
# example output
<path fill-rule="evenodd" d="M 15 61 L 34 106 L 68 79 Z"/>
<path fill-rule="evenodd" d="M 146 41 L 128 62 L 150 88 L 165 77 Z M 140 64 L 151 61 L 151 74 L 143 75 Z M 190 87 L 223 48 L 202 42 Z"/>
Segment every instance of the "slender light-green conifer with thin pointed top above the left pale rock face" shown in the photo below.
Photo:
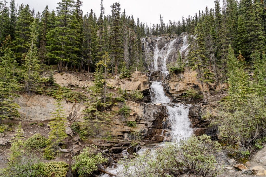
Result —
<path fill-rule="evenodd" d="M 32 91 L 36 90 L 37 85 L 40 82 L 39 78 L 39 61 L 38 61 L 38 49 L 36 46 L 37 42 L 37 24 L 36 21 L 31 24 L 31 38 L 27 43 L 29 48 L 28 53 L 25 57 L 24 63 L 24 82 L 25 90 L 30 94 Z"/>

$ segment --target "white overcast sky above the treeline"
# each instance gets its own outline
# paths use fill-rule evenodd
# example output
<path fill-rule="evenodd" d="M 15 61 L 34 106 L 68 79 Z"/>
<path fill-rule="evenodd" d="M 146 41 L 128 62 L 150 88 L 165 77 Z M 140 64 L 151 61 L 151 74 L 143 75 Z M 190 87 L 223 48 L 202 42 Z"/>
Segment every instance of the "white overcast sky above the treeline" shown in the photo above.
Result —
<path fill-rule="evenodd" d="M 10 0 L 8 0 L 10 1 Z M 16 0 L 17 4 L 29 4 L 30 7 L 35 8 L 35 12 L 42 12 L 46 5 L 49 9 L 56 9 L 57 3 L 60 0 Z M 84 14 L 90 9 L 99 15 L 100 0 L 83 0 Z M 118 0 L 104 0 L 105 13 L 110 14 L 110 6 Z M 206 6 L 214 7 L 214 0 L 120 0 L 121 10 L 126 9 L 127 15 L 133 15 L 136 20 L 139 17 L 140 21 L 159 23 L 160 14 L 163 16 L 164 22 L 168 20 L 176 20 L 186 18 L 188 15 L 193 15 L 194 12 L 204 10 Z"/>

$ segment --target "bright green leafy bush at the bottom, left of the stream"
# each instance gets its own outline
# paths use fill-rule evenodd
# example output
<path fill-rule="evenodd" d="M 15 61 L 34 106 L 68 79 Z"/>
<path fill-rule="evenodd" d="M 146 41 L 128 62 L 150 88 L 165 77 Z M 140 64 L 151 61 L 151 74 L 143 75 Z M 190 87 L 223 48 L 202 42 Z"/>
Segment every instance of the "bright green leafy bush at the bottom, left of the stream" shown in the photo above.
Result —
<path fill-rule="evenodd" d="M 95 146 L 86 147 L 80 155 L 74 157 L 72 171 L 77 172 L 80 176 L 92 174 L 98 169 L 98 164 L 106 162 L 107 159 L 101 153 L 95 153 Z"/>

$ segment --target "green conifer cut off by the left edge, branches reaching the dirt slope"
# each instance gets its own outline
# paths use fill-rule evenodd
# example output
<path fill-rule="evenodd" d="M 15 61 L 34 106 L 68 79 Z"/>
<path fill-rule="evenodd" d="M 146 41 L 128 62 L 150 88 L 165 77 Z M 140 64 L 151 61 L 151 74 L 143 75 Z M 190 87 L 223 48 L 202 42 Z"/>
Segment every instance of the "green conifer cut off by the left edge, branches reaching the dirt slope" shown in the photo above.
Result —
<path fill-rule="evenodd" d="M 18 88 L 14 77 L 16 61 L 14 53 L 10 49 L 11 37 L 7 36 L 0 50 L 0 124 L 2 119 L 19 117 L 16 104 L 13 99 L 17 95 L 15 90 Z"/>

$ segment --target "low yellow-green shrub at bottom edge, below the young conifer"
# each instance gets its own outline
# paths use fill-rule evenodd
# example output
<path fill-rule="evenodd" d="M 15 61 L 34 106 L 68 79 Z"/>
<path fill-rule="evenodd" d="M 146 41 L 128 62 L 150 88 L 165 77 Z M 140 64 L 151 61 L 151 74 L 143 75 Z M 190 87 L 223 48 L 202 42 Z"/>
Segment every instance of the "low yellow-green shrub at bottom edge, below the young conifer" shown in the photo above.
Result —
<path fill-rule="evenodd" d="M 68 164 L 65 162 L 48 162 L 44 165 L 44 176 L 65 177 L 68 172 Z"/>

